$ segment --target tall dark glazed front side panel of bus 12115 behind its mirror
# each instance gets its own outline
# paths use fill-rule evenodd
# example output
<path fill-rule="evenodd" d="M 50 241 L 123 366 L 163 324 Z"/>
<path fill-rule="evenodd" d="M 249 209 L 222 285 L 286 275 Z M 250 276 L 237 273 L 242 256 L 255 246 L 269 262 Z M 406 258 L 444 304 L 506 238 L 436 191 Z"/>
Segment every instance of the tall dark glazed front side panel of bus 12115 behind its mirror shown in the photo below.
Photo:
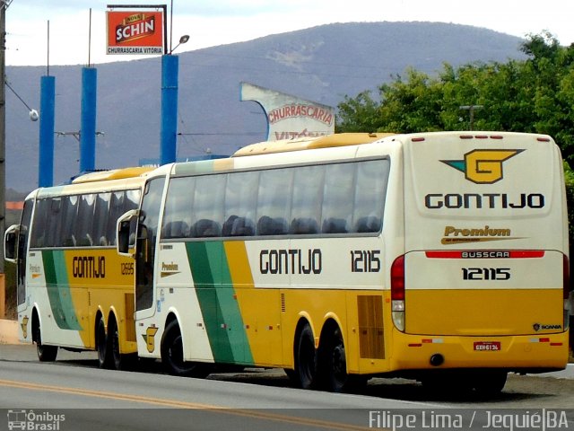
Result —
<path fill-rule="evenodd" d="M 154 306 L 154 263 L 165 178 L 148 181 L 143 191 L 135 242 L 135 320 L 152 317 Z"/>

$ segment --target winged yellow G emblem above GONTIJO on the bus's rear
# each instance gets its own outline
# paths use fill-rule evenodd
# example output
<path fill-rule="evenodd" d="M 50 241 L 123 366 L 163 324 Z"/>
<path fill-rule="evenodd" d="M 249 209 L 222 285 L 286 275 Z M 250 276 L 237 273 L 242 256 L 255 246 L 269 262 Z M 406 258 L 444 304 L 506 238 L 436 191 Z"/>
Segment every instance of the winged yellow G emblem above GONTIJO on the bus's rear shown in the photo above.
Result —
<path fill-rule="evenodd" d="M 502 180 L 502 163 L 525 150 L 473 150 L 464 160 L 441 160 L 465 174 L 465 179 L 476 184 L 493 184 Z"/>

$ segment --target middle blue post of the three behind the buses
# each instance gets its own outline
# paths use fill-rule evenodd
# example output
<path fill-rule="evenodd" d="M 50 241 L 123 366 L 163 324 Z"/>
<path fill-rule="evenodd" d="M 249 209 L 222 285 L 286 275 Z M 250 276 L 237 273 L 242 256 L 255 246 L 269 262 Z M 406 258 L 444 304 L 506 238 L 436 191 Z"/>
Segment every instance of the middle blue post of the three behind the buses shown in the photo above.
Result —
<path fill-rule="evenodd" d="M 96 92 L 98 70 L 82 69 L 82 125 L 80 130 L 80 172 L 90 172 L 96 165 Z"/>

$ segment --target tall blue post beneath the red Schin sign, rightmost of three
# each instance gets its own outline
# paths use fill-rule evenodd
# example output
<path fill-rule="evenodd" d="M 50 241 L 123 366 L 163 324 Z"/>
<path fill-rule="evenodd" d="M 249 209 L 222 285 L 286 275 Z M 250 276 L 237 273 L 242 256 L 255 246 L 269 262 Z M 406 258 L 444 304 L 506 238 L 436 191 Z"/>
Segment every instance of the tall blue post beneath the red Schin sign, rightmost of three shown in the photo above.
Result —
<path fill-rule="evenodd" d="M 161 57 L 161 164 L 176 161 L 178 69 L 178 56 L 166 55 Z"/>

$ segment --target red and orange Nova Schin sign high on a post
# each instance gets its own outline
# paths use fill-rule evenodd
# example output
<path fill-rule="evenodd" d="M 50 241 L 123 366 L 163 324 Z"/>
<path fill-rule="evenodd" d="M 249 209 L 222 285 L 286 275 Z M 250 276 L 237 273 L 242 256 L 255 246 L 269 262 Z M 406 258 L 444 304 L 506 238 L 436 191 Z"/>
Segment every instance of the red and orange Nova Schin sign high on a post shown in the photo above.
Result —
<path fill-rule="evenodd" d="M 163 12 L 108 11 L 108 54 L 163 54 Z"/>

